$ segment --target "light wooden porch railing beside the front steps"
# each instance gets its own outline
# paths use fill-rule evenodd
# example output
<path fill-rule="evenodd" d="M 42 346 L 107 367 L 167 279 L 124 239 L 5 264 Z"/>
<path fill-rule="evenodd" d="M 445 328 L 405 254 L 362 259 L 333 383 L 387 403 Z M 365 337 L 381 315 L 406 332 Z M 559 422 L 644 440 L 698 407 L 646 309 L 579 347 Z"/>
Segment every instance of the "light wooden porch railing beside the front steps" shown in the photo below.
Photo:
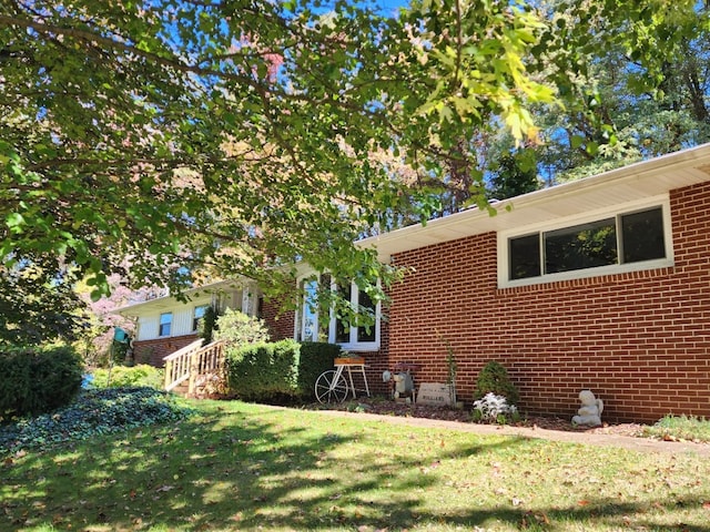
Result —
<path fill-rule="evenodd" d="M 192 395 L 195 391 L 197 377 L 215 372 L 224 364 L 223 342 L 213 341 L 203 347 L 202 340 L 195 340 L 163 360 L 165 390 L 170 391 L 187 381 L 187 395 Z"/>

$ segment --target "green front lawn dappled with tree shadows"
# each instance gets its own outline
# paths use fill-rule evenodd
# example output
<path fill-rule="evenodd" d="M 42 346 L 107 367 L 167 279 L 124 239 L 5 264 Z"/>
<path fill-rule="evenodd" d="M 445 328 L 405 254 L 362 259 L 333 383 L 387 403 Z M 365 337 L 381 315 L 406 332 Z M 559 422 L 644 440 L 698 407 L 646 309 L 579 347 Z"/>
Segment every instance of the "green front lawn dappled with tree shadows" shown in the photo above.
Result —
<path fill-rule="evenodd" d="M 0 467 L 0 530 L 710 531 L 710 460 L 242 402 Z"/>

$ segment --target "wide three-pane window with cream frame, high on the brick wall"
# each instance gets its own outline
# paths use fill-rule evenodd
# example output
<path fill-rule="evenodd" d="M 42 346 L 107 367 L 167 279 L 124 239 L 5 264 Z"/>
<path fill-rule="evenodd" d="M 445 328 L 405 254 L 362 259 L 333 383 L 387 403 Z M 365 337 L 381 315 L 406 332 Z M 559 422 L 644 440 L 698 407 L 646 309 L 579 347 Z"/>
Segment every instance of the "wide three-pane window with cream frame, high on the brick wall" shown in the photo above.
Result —
<path fill-rule="evenodd" d="M 498 234 L 498 286 L 672 266 L 668 196 Z"/>

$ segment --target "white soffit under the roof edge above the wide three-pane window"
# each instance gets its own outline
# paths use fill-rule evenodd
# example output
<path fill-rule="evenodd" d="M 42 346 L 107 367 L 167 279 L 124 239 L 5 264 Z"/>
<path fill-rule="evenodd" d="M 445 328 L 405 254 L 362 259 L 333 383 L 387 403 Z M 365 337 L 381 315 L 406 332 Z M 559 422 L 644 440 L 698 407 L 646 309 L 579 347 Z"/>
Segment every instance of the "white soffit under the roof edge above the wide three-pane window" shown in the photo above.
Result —
<path fill-rule="evenodd" d="M 710 181 L 710 144 L 505 200 L 494 205 L 496 216 L 471 208 L 365 238 L 358 245 L 376 248 L 387 262 L 397 253 L 608 208 L 706 181 Z"/>

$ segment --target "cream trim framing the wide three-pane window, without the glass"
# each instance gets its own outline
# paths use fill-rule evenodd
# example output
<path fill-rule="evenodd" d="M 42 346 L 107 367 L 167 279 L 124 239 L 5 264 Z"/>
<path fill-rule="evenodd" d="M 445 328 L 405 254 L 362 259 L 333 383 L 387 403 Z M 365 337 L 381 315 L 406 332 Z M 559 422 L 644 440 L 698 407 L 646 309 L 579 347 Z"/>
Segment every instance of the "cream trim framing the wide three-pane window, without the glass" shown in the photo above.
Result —
<path fill-rule="evenodd" d="M 509 278 L 509 247 L 508 243 L 510 238 L 523 237 L 534 233 L 545 233 L 557 229 L 564 229 L 566 227 L 572 227 L 589 222 L 602 219 L 605 217 L 615 217 L 617 224 L 620 221 L 620 216 L 627 214 L 633 214 L 640 211 L 650 209 L 653 207 L 661 208 L 661 216 L 663 219 L 663 244 L 666 247 L 666 257 L 651 260 L 641 260 L 637 263 L 613 264 L 606 266 L 597 266 L 592 268 L 574 269 L 569 272 L 560 272 L 556 274 L 541 273 L 536 277 L 526 277 L 523 279 Z M 617 233 L 620 233 L 617 231 Z M 658 269 L 663 267 L 673 266 L 673 241 L 672 241 L 672 226 L 670 215 L 670 198 L 668 194 L 660 196 L 653 196 L 637 202 L 628 202 L 613 207 L 599 208 L 596 211 L 589 211 L 582 215 L 567 216 L 564 218 L 555 219 L 554 222 L 534 224 L 528 226 L 518 227 L 511 231 L 499 232 L 497 238 L 497 263 L 498 263 L 498 288 L 514 288 L 518 286 L 541 285 L 546 283 L 555 283 L 560 280 L 584 279 L 589 277 L 599 277 L 602 275 L 623 274 L 628 272 L 640 272 L 647 269 Z M 617 238 L 620 236 L 618 235 Z M 619 250 L 621 253 L 621 250 Z M 544 260 L 544 257 L 540 257 Z"/>

